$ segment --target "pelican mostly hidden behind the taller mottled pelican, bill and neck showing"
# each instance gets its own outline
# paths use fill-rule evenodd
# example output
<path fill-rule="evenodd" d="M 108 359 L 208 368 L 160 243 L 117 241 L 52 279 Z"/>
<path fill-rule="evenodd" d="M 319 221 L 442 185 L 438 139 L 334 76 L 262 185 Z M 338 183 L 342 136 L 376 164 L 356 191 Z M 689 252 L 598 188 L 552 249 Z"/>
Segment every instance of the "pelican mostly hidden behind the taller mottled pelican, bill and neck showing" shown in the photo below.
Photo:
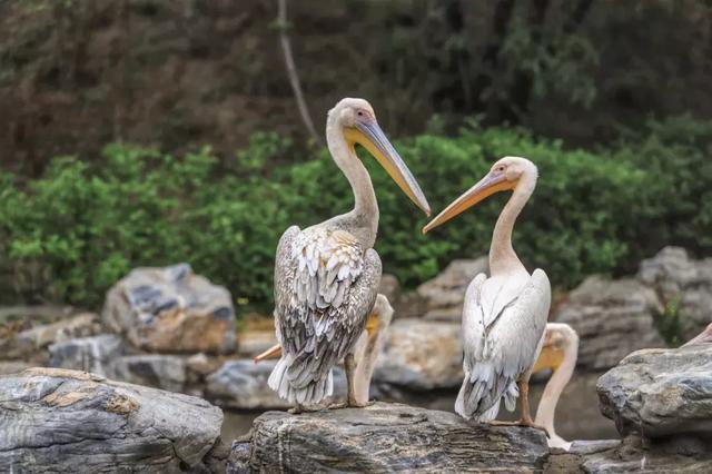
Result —
<path fill-rule="evenodd" d="M 354 349 L 354 359 L 356 363 L 354 371 L 354 397 L 359 404 L 365 405 L 369 401 L 370 379 L 374 375 L 378 354 L 380 354 L 386 342 L 392 319 L 393 307 L 388 303 L 388 298 L 379 294 L 376 297 L 374 309 L 366 320 L 366 327 Z M 277 344 L 256 356 L 255 363 L 280 355 L 281 346 Z"/>

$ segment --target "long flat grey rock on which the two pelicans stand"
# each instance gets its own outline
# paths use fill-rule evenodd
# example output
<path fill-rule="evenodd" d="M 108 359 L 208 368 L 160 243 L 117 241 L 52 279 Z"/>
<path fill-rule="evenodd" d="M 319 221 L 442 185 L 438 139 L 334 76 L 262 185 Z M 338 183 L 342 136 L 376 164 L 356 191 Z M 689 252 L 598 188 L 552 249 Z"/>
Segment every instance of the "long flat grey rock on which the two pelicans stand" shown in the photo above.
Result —
<path fill-rule="evenodd" d="M 247 454 L 234 444 L 231 463 L 245 466 Z M 541 472 L 548 448 L 534 428 L 376 403 L 297 416 L 266 413 L 255 419 L 248 455 L 247 472 Z"/>

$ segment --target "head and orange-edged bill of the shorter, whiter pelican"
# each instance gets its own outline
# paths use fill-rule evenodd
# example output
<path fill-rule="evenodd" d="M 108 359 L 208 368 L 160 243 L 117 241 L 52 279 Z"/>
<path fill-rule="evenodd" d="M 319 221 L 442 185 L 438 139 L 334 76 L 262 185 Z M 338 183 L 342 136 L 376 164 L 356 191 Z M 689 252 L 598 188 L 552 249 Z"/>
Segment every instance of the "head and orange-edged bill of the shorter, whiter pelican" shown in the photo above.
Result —
<path fill-rule="evenodd" d="M 490 172 L 485 175 L 475 186 L 455 199 L 441 214 L 423 227 L 423 234 L 445 224 L 465 209 L 486 199 L 498 191 L 507 191 L 526 186 L 534 189 L 538 171 L 536 166 L 526 158 L 504 157 L 492 166 Z"/>

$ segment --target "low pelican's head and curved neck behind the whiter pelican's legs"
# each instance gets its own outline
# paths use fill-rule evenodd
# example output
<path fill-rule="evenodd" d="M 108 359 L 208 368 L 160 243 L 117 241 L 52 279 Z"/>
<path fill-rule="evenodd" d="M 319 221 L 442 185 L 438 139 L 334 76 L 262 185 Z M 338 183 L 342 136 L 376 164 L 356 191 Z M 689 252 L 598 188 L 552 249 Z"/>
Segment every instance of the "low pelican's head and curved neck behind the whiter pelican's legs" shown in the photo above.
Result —
<path fill-rule="evenodd" d="M 544 333 L 542 353 L 532 369 L 533 374 L 545 368 L 553 371 L 544 387 L 534 418 L 534 423 L 544 426 L 548 432 L 548 447 L 562 447 L 566 451 L 571 448 L 571 442 L 562 438 L 554 431 L 554 412 L 561 393 L 574 373 L 577 355 L 576 332 L 567 324 L 548 323 Z"/>

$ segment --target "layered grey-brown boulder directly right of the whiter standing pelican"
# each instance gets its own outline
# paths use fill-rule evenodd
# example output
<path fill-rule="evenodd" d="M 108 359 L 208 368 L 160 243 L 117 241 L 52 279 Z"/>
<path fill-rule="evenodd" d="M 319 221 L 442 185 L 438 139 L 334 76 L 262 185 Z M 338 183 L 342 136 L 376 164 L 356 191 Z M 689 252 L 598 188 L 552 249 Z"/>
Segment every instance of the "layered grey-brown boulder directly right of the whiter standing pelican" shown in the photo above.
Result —
<path fill-rule="evenodd" d="M 613 367 L 633 350 L 664 347 L 654 323 L 661 312 L 655 293 L 635 279 L 593 276 L 571 292 L 554 320 L 578 333 L 577 366 L 599 371 Z"/>

